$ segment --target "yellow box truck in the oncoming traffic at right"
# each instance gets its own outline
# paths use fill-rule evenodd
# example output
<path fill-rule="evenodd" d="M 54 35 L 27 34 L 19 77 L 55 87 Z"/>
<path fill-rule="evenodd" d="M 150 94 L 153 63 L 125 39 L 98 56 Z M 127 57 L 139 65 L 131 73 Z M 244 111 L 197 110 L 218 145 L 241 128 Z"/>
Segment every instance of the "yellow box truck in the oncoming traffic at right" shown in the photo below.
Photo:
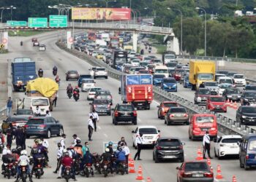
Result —
<path fill-rule="evenodd" d="M 214 82 L 215 63 L 209 60 L 190 60 L 189 61 L 189 83 L 192 90 L 196 90 L 204 82 Z"/>

